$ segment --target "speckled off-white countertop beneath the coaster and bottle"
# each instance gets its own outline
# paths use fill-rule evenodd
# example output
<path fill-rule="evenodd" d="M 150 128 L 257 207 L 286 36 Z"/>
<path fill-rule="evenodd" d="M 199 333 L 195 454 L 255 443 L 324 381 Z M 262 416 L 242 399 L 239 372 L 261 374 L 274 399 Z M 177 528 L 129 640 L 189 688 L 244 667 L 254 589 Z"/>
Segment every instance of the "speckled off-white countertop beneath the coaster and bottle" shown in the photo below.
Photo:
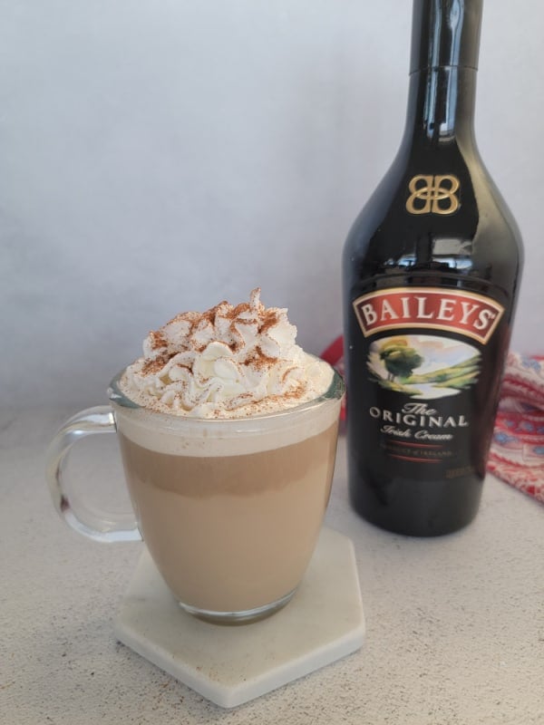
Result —
<path fill-rule="evenodd" d="M 489 477 L 470 527 L 389 534 L 350 509 L 341 440 L 326 524 L 355 545 L 364 646 L 223 710 L 116 641 L 112 620 L 142 545 L 94 543 L 53 510 L 44 449 L 73 412 L 0 412 L 1 725 L 544 723 L 537 501 Z M 114 437 L 79 448 L 70 465 L 96 481 L 99 499 L 121 475 Z"/>

